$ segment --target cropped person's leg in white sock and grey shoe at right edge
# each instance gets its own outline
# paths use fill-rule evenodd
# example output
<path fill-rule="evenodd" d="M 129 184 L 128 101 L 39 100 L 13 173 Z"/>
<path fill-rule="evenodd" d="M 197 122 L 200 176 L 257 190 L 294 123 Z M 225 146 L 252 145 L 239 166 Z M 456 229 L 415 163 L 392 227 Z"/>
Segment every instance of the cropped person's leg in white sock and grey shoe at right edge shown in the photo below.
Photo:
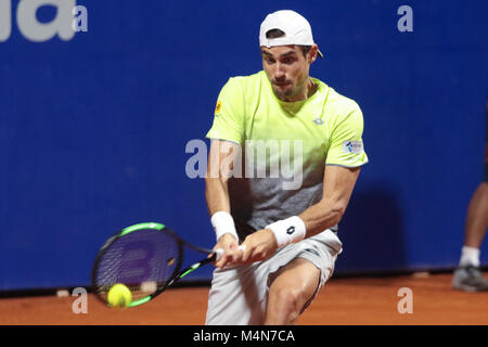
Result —
<path fill-rule="evenodd" d="M 486 104 L 485 175 L 467 207 L 464 246 L 452 278 L 452 287 L 465 292 L 488 291 L 488 281 L 479 270 L 479 247 L 488 228 L 488 103 Z"/>

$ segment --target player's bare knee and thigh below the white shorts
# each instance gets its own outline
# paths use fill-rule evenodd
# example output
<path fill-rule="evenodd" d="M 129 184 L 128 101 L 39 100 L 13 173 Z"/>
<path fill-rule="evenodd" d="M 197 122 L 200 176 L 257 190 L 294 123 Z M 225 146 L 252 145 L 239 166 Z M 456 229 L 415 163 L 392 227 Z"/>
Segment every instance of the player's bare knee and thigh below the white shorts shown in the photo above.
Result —
<path fill-rule="evenodd" d="M 282 267 L 269 288 L 265 324 L 295 324 L 318 291 L 320 274 L 320 269 L 304 258 Z"/>

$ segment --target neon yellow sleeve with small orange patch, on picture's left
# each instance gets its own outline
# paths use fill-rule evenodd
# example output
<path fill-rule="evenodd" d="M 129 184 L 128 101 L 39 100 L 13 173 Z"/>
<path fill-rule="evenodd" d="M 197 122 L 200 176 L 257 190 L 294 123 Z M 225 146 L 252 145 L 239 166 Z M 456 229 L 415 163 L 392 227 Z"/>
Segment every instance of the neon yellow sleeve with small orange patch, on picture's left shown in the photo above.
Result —
<path fill-rule="evenodd" d="M 244 140 L 243 92 L 234 78 L 230 78 L 219 93 L 214 124 L 206 137 L 239 144 Z"/>

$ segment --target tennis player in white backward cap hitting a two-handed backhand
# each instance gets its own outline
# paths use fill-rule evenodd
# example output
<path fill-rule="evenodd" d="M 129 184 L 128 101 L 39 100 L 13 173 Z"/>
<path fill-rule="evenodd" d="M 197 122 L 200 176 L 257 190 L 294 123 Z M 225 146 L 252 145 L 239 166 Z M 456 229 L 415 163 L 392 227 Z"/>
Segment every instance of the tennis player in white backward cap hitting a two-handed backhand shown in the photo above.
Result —
<path fill-rule="evenodd" d="M 307 20 L 269 14 L 259 41 L 264 70 L 229 79 L 207 133 L 206 198 L 223 249 L 207 324 L 297 322 L 332 275 L 337 223 L 368 163 L 357 103 L 309 76 L 322 53 Z"/>

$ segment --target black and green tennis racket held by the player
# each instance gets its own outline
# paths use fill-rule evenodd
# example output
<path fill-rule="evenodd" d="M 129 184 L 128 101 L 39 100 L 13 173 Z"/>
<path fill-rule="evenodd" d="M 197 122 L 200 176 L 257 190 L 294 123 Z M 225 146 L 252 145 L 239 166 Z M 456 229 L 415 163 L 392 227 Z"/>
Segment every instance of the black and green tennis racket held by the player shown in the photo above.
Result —
<path fill-rule="evenodd" d="M 183 248 L 206 255 L 201 261 L 181 270 Z M 110 237 L 97 255 L 91 281 L 97 297 L 110 306 L 108 291 L 125 284 L 132 294 L 128 307 L 151 301 L 178 280 L 218 260 L 222 249 L 196 247 L 160 223 L 130 226 Z"/>

